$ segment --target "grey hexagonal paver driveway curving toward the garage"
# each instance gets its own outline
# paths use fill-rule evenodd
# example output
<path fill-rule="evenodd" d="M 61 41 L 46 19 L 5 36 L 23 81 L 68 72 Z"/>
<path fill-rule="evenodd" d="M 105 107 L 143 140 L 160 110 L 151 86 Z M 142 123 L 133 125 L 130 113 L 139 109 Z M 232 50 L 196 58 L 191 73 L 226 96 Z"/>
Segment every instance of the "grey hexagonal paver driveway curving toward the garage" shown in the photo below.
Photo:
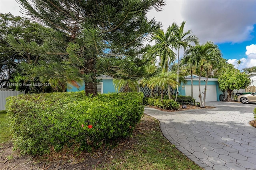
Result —
<path fill-rule="evenodd" d="M 144 113 L 160 121 L 164 136 L 205 170 L 256 170 L 255 104 L 206 102 L 214 109 Z"/>

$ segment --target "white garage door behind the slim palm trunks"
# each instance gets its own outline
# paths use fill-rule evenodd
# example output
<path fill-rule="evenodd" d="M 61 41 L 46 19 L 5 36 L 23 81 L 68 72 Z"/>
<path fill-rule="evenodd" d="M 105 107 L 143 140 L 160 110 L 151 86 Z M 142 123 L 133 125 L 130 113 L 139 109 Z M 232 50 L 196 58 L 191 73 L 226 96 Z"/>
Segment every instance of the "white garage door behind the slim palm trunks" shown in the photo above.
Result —
<path fill-rule="evenodd" d="M 185 85 L 186 96 L 191 96 L 191 85 Z M 201 85 L 201 92 L 204 92 L 204 85 Z M 198 85 L 193 85 L 193 97 L 197 102 L 200 101 Z M 204 94 L 202 93 L 202 99 Z M 206 99 L 205 101 L 217 101 L 216 85 L 207 85 Z"/>

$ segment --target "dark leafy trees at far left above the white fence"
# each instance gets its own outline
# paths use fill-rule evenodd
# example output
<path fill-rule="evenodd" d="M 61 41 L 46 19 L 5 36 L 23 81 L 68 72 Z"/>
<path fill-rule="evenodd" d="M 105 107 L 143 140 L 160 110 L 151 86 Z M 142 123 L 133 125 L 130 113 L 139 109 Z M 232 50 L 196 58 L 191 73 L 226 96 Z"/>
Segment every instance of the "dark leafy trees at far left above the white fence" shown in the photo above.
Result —
<path fill-rule="evenodd" d="M 34 47 L 35 44 L 41 45 L 42 38 L 39 37 L 38 29 L 47 29 L 36 22 L 13 16 L 12 14 L 0 14 L 0 85 L 5 88 L 16 89 L 20 91 L 30 92 L 45 92 L 47 87 L 22 86 L 20 83 L 45 83 L 39 79 L 30 79 L 26 77 L 27 72 L 21 74 L 18 69 L 18 64 L 26 62 L 36 64 L 42 59 L 40 55 L 33 55 L 29 48 L 26 50 L 24 46 Z M 12 35 L 12 40 L 17 42 L 17 46 L 12 48 L 7 40 L 8 35 Z M 33 42 L 33 43 L 32 43 Z M 24 50 L 18 50 L 18 49 Z M 9 84 L 10 83 L 10 84 Z M 14 86 L 15 85 L 15 86 Z"/>

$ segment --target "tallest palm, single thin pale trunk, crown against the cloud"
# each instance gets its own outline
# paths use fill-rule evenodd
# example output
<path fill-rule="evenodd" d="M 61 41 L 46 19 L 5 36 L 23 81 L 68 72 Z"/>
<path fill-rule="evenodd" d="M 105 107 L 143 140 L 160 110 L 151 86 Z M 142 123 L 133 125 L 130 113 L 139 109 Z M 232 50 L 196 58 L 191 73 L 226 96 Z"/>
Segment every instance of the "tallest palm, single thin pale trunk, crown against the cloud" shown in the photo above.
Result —
<path fill-rule="evenodd" d="M 191 43 L 198 44 L 199 39 L 195 35 L 192 34 L 191 30 L 188 30 L 187 32 L 184 32 L 184 26 L 186 21 L 183 21 L 180 26 L 176 24 L 176 22 L 172 23 L 171 27 L 176 27 L 177 29 L 174 30 L 172 34 L 172 39 L 175 40 L 174 48 L 178 49 L 178 69 L 177 69 L 177 82 L 179 83 L 179 65 L 180 65 L 180 49 L 187 49 L 188 47 L 192 47 Z M 175 97 L 175 101 L 177 101 L 178 97 L 178 83 L 177 83 L 177 93 Z"/>

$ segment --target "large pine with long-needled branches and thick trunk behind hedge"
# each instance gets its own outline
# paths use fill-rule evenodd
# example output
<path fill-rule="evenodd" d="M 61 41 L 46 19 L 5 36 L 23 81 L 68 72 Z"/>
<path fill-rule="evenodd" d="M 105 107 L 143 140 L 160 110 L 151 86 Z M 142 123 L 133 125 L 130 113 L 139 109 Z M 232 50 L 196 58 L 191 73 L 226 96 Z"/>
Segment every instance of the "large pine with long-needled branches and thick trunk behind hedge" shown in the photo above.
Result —
<path fill-rule="evenodd" d="M 43 45 L 31 47 L 36 49 L 35 54 L 51 59 L 41 64 L 48 65 L 52 77 L 86 79 L 86 94 L 97 95 L 96 76 L 99 74 L 120 79 L 147 75 L 145 64 L 148 60 L 142 56 L 149 45 L 143 43 L 160 28 L 160 23 L 148 20 L 146 12 L 152 8 L 159 11 L 164 6 L 163 0 L 31 2 L 20 0 L 24 12 L 52 28 L 51 31 L 42 30 Z M 17 45 L 13 41 L 10 44 Z M 45 67 L 23 68 L 46 72 Z"/>

